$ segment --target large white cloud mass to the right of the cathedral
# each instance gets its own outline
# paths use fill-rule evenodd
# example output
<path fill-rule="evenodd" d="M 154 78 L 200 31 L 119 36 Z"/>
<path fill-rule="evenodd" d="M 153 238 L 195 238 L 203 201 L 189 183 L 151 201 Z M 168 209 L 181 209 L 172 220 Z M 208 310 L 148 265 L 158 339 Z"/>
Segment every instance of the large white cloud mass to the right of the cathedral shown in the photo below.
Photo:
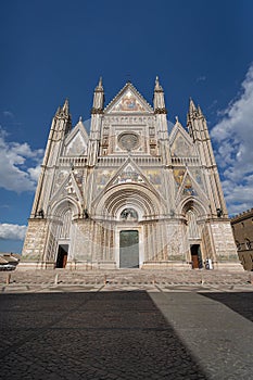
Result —
<path fill-rule="evenodd" d="M 219 116 L 211 137 L 217 143 L 228 211 L 235 214 L 253 206 L 253 64 L 241 92 Z"/>

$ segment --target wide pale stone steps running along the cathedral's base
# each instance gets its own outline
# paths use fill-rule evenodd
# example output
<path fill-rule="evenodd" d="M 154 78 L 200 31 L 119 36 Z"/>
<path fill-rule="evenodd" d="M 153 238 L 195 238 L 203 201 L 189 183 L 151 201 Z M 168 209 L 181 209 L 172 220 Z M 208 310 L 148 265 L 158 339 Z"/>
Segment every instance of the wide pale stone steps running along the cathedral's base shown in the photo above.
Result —
<path fill-rule="evenodd" d="M 249 283 L 252 282 L 251 273 L 229 273 L 220 270 L 90 270 L 77 271 L 67 269 L 1 271 L 0 283 L 7 283 L 10 277 L 15 283 Z"/>

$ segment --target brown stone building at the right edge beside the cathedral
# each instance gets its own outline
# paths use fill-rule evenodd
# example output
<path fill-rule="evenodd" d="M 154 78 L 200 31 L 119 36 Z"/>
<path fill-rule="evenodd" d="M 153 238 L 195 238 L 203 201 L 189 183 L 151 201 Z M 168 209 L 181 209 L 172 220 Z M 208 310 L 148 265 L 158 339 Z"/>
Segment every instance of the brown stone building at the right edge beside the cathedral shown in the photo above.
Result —
<path fill-rule="evenodd" d="M 253 270 L 253 208 L 231 219 L 239 258 L 245 270 Z"/>

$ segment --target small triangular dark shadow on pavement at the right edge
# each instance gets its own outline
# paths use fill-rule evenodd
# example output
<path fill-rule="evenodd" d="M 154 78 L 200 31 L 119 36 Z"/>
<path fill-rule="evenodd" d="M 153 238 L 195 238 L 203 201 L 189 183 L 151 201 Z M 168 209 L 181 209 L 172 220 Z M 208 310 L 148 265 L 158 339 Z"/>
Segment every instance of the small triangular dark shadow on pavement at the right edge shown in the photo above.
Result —
<path fill-rule="evenodd" d="M 217 301 L 240 314 L 244 318 L 253 321 L 253 292 L 235 293 L 201 293 L 211 300 Z"/>

